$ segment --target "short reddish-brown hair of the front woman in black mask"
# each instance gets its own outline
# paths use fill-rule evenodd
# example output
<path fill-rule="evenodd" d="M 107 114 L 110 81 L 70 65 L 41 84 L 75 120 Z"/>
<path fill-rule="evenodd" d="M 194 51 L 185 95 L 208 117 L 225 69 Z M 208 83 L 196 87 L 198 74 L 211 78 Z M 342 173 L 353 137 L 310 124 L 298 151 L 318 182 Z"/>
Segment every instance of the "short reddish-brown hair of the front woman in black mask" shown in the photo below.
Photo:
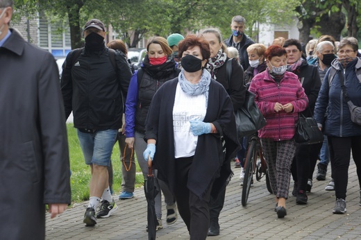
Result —
<path fill-rule="evenodd" d="M 201 49 L 203 60 L 208 60 L 210 58 L 210 44 L 204 37 L 199 37 L 196 35 L 187 35 L 181 42 L 178 44 L 178 55 L 181 57 L 184 51 L 187 51 L 192 46 L 199 46 Z"/>

